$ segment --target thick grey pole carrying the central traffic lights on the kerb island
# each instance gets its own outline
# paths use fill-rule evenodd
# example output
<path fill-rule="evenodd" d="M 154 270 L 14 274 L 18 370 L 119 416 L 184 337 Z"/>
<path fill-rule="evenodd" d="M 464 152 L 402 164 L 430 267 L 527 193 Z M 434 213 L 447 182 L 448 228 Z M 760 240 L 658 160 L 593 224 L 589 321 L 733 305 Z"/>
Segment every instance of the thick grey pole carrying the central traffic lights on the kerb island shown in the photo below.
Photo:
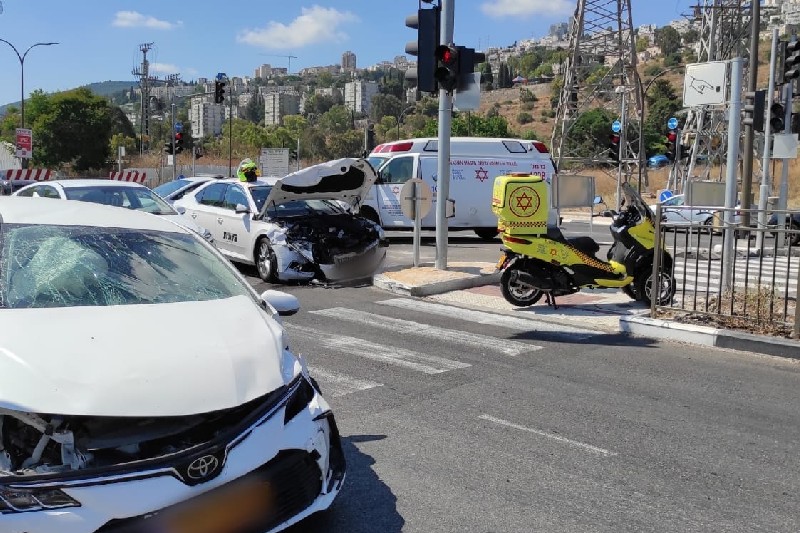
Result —
<path fill-rule="evenodd" d="M 455 0 L 441 0 L 441 34 L 439 44 L 453 41 L 453 14 Z M 447 199 L 450 197 L 450 123 L 453 99 L 444 89 L 439 89 L 439 161 L 438 188 L 436 190 L 436 263 L 439 270 L 447 270 Z"/>

